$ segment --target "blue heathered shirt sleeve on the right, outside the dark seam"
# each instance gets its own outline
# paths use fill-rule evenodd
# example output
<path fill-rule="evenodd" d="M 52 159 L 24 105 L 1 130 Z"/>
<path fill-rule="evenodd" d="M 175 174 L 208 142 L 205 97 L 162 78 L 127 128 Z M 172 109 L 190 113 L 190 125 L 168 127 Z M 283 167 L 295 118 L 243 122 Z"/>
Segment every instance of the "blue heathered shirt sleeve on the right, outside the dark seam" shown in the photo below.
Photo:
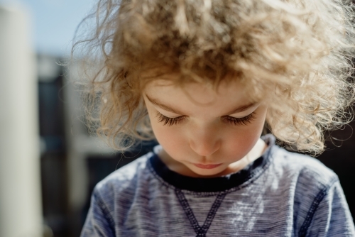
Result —
<path fill-rule="evenodd" d="M 317 195 L 305 224 L 300 236 L 355 236 L 354 222 L 338 179 Z"/>

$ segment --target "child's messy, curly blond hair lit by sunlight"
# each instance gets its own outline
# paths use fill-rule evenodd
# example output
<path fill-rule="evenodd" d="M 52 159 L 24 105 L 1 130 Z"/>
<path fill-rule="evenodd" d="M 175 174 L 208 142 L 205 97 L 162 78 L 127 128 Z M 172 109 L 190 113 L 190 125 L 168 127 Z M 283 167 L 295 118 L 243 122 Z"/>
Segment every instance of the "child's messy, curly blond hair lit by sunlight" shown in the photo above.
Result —
<path fill-rule="evenodd" d="M 146 84 L 170 73 L 182 87 L 232 78 L 268 101 L 276 138 L 321 153 L 324 131 L 352 118 L 353 18 L 342 0 L 99 0 L 72 48 L 87 75 L 89 127 L 126 150 L 154 138 Z"/>

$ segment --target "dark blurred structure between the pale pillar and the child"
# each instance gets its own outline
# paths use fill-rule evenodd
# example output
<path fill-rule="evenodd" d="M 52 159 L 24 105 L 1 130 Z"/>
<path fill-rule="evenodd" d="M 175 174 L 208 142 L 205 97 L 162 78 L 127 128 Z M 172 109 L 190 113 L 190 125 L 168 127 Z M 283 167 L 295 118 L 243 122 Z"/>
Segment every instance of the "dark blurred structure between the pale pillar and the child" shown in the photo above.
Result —
<path fill-rule="evenodd" d="M 67 60 L 60 57 L 37 58 L 43 216 L 55 237 L 79 236 L 94 185 L 156 143 L 143 143 L 125 154 L 134 158 L 122 158 L 90 136 L 77 87 L 80 68 L 60 66 Z"/>

